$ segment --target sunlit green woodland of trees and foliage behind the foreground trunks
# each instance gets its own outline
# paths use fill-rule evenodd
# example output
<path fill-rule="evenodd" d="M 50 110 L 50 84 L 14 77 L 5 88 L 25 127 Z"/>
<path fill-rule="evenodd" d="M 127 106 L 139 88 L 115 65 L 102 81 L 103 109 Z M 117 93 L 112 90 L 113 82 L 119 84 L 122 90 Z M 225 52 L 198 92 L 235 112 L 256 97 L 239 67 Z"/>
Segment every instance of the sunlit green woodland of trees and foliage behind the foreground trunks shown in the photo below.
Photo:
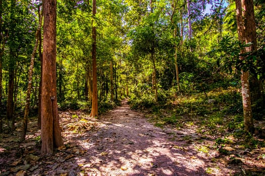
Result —
<path fill-rule="evenodd" d="M 28 88 L 29 116 L 40 116 L 42 32 L 35 33 L 42 19 L 42 3 L 0 0 L 0 6 L 3 132 L 14 130 L 16 122 L 22 121 Z M 132 109 L 156 115 L 156 126 L 181 126 L 180 117 L 209 117 L 204 125 L 214 130 L 224 117 L 230 117 L 233 120 L 224 130 L 242 130 L 243 70 L 258 82 L 250 89 L 253 118 L 264 120 L 263 0 L 254 1 L 256 49 L 241 54 L 251 44 L 239 42 L 234 1 L 98 0 L 96 8 L 93 18 L 90 1 L 57 1 L 59 110 L 91 110 L 91 34 L 96 27 L 99 114 L 129 97 Z M 36 39 L 32 80 L 28 81 Z M 261 135 L 263 127 L 255 128 Z"/>

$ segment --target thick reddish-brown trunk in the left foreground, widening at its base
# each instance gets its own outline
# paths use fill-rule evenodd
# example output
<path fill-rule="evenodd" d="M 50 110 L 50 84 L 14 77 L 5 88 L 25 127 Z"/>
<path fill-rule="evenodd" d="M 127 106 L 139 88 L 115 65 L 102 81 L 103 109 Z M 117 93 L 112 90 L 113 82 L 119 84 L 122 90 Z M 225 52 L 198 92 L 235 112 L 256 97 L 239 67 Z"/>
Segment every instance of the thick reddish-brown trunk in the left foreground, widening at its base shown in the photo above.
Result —
<path fill-rule="evenodd" d="M 43 3 L 43 67 L 41 90 L 41 150 L 52 153 L 64 145 L 59 125 L 56 95 L 56 0 Z"/>

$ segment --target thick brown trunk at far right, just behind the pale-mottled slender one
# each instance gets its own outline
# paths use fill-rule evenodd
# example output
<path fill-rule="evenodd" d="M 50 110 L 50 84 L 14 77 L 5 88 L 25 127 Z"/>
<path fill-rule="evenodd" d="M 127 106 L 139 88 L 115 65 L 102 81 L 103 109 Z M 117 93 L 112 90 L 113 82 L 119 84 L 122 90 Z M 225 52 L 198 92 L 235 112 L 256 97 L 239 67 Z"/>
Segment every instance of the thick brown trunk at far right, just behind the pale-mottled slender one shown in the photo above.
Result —
<path fill-rule="evenodd" d="M 246 52 L 252 52 L 257 50 L 257 37 L 256 37 L 256 24 L 254 16 L 253 0 L 242 0 L 243 7 L 243 19 L 245 25 L 245 42 L 252 43 L 249 47 L 246 47 Z M 256 76 L 250 74 L 250 97 L 252 111 L 257 112 L 258 109 L 263 109 L 263 85 L 262 80 L 258 80 Z M 258 107 L 260 106 L 260 108 Z"/>

